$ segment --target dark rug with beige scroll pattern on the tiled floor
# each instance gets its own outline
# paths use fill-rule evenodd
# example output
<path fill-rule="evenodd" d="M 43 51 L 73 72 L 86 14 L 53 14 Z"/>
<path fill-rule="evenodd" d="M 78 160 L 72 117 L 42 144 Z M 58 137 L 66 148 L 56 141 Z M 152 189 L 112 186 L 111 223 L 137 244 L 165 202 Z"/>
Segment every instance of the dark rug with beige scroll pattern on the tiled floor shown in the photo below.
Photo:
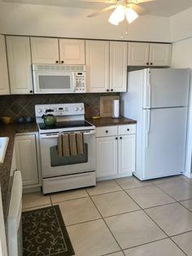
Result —
<path fill-rule="evenodd" d="M 22 213 L 24 256 L 71 256 L 72 243 L 59 205 Z"/>

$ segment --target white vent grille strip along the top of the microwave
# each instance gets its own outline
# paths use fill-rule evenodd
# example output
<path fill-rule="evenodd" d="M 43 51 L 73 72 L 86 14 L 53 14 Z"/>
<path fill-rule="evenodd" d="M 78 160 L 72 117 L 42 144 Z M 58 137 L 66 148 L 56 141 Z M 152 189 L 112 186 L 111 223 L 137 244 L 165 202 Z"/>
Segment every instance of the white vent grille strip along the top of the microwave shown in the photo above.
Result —
<path fill-rule="evenodd" d="M 43 65 L 33 64 L 33 70 L 35 71 L 85 71 L 85 65 Z"/>

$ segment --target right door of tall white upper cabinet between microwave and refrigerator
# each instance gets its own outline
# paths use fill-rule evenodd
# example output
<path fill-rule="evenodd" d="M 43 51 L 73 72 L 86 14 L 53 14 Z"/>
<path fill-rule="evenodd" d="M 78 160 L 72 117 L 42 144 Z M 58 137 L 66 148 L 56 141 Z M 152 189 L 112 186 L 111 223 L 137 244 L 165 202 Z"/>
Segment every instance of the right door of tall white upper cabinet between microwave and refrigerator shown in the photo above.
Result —
<path fill-rule="evenodd" d="M 110 90 L 126 91 L 127 42 L 110 42 Z"/>

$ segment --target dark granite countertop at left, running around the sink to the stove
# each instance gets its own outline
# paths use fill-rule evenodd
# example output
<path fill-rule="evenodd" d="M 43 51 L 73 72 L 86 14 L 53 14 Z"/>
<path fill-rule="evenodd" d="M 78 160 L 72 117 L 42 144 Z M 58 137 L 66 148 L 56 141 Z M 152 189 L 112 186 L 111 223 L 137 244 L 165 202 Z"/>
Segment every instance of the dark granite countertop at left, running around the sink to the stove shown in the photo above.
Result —
<path fill-rule="evenodd" d="M 9 194 L 11 161 L 13 156 L 14 139 L 16 133 L 36 132 L 37 124 L 35 122 L 28 124 L 11 123 L 9 125 L 0 125 L 0 137 L 9 137 L 6 156 L 4 162 L 0 164 L 0 183 L 2 189 L 2 205 L 4 214 L 7 211 L 7 195 Z M 6 217 L 6 216 L 5 216 Z"/>

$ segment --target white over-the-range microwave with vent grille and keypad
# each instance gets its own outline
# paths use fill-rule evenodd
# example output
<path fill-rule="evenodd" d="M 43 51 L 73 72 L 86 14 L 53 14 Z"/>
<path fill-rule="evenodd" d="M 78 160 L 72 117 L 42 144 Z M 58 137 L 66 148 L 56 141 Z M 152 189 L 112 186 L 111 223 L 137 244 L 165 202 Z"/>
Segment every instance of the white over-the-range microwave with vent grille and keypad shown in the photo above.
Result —
<path fill-rule="evenodd" d="M 33 64 L 34 93 L 84 93 L 85 73 L 85 65 Z"/>

